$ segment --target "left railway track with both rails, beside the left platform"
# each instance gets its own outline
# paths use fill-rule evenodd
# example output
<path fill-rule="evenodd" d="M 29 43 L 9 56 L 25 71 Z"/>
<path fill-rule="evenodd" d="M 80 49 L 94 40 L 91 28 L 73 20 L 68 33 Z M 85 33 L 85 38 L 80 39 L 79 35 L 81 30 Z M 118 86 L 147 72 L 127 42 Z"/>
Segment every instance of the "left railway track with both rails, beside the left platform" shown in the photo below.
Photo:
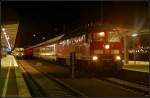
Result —
<path fill-rule="evenodd" d="M 42 73 L 29 65 L 21 65 L 27 85 L 33 97 L 82 97 L 84 94 L 61 83 L 54 77 Z"/>

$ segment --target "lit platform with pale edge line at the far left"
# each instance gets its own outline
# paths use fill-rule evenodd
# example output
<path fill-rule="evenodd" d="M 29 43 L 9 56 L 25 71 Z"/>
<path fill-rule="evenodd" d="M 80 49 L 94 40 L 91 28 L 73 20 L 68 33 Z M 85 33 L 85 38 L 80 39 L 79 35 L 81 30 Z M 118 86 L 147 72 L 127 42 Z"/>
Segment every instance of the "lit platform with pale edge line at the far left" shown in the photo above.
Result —
<path fill-rule="evenodd" d="M 1 97 L 30 97 L 29 90 L 12 55 L 1 59 Z"/>

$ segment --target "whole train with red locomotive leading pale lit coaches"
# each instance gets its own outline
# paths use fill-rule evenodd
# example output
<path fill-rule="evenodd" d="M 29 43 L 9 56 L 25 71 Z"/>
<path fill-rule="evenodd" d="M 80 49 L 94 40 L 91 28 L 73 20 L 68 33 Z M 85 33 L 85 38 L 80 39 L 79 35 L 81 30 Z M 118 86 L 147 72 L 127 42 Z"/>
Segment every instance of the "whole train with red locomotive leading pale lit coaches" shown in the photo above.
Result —
<path fill-rule="evenodd" d="M 31 49 L 32 52 L 31 53 Z M 26 51 L 33 57 L 71 65 L 75 53 L 75 66 L 80 70 L 120 70 L 123 43 L 120 32 L 114 29 L 86 29 L 37 44 Z"/>

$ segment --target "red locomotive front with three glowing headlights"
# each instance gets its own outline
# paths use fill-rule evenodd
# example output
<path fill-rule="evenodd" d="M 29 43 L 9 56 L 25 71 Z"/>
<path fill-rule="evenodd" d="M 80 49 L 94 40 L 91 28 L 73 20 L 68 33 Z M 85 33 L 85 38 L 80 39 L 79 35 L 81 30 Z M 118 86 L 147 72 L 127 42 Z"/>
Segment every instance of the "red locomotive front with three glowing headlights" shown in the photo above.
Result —
<path fill-rule="evenodd" d="M 120 70 L 122 63 L 122 39 L 116 30 L 91 33 L 90 54 L 97 70 Z"/>

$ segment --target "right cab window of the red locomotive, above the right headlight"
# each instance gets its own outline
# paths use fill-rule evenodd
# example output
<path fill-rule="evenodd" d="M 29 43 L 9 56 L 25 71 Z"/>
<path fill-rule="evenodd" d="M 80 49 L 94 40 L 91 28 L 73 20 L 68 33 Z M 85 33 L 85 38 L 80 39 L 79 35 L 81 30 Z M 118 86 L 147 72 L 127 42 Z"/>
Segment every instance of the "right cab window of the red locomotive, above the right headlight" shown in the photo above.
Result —
<path fill-rule="evenodd" d="M 120 36 L 118 32 L 109 32 L 108 33 L 108 42 L 120 42 Z"/>

